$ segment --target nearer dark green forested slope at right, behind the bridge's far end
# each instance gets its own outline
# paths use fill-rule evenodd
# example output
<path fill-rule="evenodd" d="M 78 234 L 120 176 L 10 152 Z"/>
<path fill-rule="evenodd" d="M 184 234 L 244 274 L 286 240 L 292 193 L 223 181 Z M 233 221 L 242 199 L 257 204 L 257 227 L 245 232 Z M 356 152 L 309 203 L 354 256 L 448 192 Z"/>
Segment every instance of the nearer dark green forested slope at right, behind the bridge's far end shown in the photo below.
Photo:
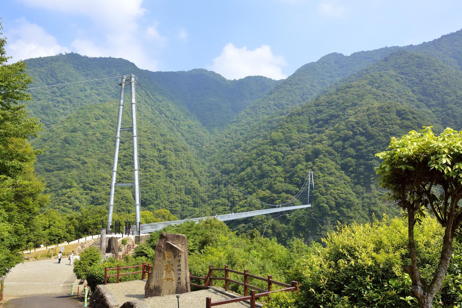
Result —
<path fill-rule="evenodd" d="M 398 51 L 366 71 L 244 136 L 229 155 L 231 178 L 248 193 L 266 192 L 267 202 L 293 193 L 307 170 L 315 172 L 313 206 L 284 218 L 285 232 L 313 238 L 335 221 L 396 214 L 374 185 L 374 154 L 391 136 L 428 125 L 438 131 L 462 116 L 456 104 L 461 72 L 441 60 Z"/>

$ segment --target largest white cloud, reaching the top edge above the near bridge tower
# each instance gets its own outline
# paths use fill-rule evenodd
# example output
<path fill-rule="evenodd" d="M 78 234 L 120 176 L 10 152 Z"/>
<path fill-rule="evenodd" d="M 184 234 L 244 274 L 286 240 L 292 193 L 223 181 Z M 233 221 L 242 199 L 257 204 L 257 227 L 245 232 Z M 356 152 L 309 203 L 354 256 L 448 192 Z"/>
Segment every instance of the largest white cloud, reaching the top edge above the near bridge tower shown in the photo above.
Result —
<path fill-rule="evenodd" d="M 22 1 L 30 6 L 90 18 L 93 27 L 88 32 L 78 30 L 71 43 L 75 52 L 94 57 L 124 58 L 141 68 L 157 70 L 158 61 L 153 58 L 155 50 L 148 52 L 142 42 L 146 35 L 151 35 L 154 40 L 164 41 L 164 37 L 156 30 L 157 24 L 140 29 L 138 20 L 146 13 L 146 9 L 141 7 L 142 0 Z"/>

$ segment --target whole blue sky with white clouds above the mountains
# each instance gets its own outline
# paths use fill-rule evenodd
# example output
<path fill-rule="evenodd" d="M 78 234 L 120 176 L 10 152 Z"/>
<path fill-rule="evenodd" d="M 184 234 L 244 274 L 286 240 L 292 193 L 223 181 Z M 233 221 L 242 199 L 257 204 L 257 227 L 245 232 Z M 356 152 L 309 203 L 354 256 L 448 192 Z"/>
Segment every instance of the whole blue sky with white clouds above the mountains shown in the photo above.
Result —
<path fill-rule="evenodd" d="M 325 54 L 431 41 L 461 30 L 460 0 L 9 0 L 12 62 L 59 53 L 151 71 L 205 68 L 285 79 Z"/>

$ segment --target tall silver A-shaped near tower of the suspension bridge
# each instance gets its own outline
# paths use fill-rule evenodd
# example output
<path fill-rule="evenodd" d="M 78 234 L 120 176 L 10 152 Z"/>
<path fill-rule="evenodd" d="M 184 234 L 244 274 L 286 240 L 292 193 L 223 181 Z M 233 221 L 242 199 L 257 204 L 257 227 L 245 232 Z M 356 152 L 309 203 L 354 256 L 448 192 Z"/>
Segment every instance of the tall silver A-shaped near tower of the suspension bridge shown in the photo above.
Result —
<path fill-rule="evenodd" d="M 131 94 L 131 112 L 132 112 L 132 127 L 122 128 L 122 109 L 123 109 L 123 98 L 125 85 L 130 85 Z M 117 128 L 116 128 L 116 145 L 114 149 L 114 161 L 112 165 L 112 177 L 111 177 L 111 191 L 109 195 L 109 213 L 108 213 L 108 224 L 106 229 L 110 230 L 112 223 L 112 213 L 114 211 L 114 194 L 116 186 L 134 186 L 134 199 L 135 199 L 135 219 L 136 228 L 140 230 L 140 182 L 139 182 L 139 168 L 138 168 L 138 136 L 137 136 L 137 125 L 136 125 L 136 76 L 130 75 L 127 81 L 126 76 L 122 76 L 119 82 L 120 85 L 120 98 L 119 98 L 119 113 L 117 116 Z M 117 163 L 119 157 L 119 145 L 120 145 L 120 132 L 132 131 L 133 141 L 133 183 L 116 183 L 117 177 Z"/>

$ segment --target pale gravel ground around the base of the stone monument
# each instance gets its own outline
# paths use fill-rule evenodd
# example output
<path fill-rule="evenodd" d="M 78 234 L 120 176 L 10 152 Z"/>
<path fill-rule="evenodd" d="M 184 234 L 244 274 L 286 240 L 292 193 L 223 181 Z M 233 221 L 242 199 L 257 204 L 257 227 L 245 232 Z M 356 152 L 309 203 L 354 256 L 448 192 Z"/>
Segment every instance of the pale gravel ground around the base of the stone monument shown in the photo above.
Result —
<path fill-rule="evenodd" d="M 176 294 L 168 296 L 155 296 L 144 298 L 144 286 L 146 280 L 133 280 L 126 281 L 120 284 L 107 284 L 106 287 L 116 297 L 119 305 L 122 306 L 124 302 L 140 299 L 146 305 L 152 308 L 177 308 L 178 302 Z M 205 308 L 205 301 L 207 296 L 212 297 L 212 302 L 224 299 L 230 299 L 230 296 L 225 296 L 214 290 L 200 290 L 189 293 L 180 294 L 180 307 L 188 308 Z M 234 302 L 231 304 L 220 305 L 220 308 L 249 308 L 249 304 L 244 302 Z"/>

